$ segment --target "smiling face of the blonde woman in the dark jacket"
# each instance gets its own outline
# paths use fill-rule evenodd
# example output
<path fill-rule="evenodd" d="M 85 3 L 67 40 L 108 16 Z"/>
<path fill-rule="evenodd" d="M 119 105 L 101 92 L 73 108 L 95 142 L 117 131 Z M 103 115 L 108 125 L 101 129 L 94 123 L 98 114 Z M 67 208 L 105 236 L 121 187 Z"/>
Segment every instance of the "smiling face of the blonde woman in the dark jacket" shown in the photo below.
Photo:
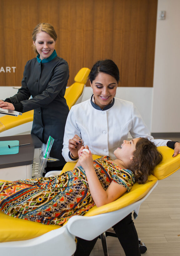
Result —
<path fill-rule="evenodd" d="M 55 41 L 46 32 L 41 31 L 36 35 L 36 41 L 33 41 L 38 54 L 40 54 L 40 59 L 45 59 L 51 56 L 55 48 Z"/>

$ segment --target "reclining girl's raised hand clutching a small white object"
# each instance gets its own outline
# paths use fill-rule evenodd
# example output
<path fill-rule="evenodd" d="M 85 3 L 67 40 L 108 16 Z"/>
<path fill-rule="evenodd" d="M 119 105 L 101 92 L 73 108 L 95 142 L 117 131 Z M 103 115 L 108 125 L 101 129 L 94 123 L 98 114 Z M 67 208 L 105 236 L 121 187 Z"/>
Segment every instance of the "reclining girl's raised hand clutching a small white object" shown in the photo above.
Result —
<path fill-rule="evenodd" d="M 88 146 L 85 146 L 85 148 L 88 148 Z M 92 169 L 94 170 L 94 165 L 93 165 L 93 156 L 91 154 L 91 151 L 89 150 L 89 153 L 86 151 L 79 150 L 79 164 L 83 167 L 85 172 L 91 171 Z"/>

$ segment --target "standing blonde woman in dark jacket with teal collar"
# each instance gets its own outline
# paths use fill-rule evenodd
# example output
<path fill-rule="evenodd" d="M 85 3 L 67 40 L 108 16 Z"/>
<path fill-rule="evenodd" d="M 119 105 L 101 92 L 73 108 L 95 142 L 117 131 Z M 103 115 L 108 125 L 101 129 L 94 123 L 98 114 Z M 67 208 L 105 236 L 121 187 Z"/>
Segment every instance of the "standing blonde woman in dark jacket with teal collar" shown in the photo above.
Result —
<path fill-rule="evenodd" d="M 17 94 L 0 100 L 0 107 L 22 113 L 34 110 L 31 133 L 45 144 L 49 136 L 53 137 L 50 156 L 60 161 L 47 164 L 62 170 L 66 163 L 61 154 L 64 127 L 69 113 L 64 98 L 69 78 L 68 63 L 57 56 L 57 34 L 51 24 L 39 23 L 33 30 L 32 40 L 37 57 L 27 61 Z"/>

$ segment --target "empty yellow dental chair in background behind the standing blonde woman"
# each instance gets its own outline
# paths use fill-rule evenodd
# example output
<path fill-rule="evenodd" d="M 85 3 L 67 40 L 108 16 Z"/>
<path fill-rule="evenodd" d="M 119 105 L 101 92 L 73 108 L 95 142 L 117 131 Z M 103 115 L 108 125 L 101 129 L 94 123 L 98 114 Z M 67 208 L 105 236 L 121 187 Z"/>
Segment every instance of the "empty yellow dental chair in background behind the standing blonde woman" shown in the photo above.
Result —
<path fill-rule="evenodd" d="M 90 69 L 88 68 L 80 69 L 74 78 L 75 82 L 66 89 L 64 97 L 69 109 L 71 109 L 74 104 L 81 102 L 89 72 Z M 34 111 L 31 110 L 22 115 L 18 115 L 17 117 L 11 115 L 0 117 L 0 137 L 31 131 L 33 113 Z"/>

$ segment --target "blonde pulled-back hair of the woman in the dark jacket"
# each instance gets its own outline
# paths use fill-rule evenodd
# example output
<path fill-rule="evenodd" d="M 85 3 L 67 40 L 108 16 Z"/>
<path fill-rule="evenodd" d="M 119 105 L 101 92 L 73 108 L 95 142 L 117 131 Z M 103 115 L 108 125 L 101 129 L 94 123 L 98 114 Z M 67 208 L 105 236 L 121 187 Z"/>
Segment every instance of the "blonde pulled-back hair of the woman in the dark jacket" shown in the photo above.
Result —
<path fill-rule="evenodd" d="M 32 40 L 35 42 L 36 41 L 36 36 L 38 33 L 40 32 L 46 32 L 47 34 L 50 35 L 50 37 L 52 37 L 54 39 L 54 41 L 57 40 L 58 36 L 56 34 L 56 31 L 54 29 L 54 27 L 49 24 L 49 23 L 39 23 L 37 24 L 37 26 L 34 28 L 33 32 L 32 32 Z M 33 44 L 32 48 L 34 50 L 34 52 L 36 54 L 38 54 L 36 46 Z"/>

